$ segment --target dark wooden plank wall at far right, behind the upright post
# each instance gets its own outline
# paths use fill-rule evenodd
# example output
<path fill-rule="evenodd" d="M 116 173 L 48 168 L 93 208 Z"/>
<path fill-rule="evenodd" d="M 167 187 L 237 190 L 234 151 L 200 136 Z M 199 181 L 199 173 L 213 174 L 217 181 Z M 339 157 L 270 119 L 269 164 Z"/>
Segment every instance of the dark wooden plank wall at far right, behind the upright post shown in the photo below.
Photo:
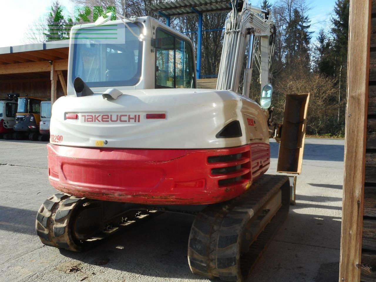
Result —
<path fill-rule="evenodd" d="M 376 0 L 372 0 L 361 281 L 376 281 Z"/>

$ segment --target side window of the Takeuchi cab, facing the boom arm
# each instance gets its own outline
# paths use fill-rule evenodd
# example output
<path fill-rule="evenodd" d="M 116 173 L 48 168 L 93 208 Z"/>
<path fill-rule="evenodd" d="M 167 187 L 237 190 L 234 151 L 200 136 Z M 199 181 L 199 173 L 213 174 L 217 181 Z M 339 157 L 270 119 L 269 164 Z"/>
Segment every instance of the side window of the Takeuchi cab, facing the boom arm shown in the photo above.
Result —
<path fill-rule="evenodd" d="M 194 88 L 191 44 L 162 29 L 156 31 L 155 88 Z"/>

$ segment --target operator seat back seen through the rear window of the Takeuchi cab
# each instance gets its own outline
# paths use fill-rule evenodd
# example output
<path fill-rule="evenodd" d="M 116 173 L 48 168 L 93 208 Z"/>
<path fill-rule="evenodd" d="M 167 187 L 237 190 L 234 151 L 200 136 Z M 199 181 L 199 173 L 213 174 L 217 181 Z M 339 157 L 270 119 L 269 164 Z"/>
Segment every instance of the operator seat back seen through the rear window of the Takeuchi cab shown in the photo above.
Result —
<path fill-rule="evenodd" d="M 106 81 L 130 80 L 135 76 L 135 56 L 130 52 L 110 53 L 106 60 Z"/>

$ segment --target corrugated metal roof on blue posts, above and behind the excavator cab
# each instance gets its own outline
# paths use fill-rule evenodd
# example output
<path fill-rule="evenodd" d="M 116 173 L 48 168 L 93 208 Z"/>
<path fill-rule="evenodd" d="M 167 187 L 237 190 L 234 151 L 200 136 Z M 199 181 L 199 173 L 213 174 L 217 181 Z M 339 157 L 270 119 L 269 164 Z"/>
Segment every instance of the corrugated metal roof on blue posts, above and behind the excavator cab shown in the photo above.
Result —
<path fill-rule="evenodd" d="M 186 15 L 196 14 L 192 8 L 202 14 L 229 12 L 231 5 L 229 0 L 186 0 L 165 2 L 155 5 L 146 6 L 146 8 L 157 15 L 162 12 L 168 17 L 182 17 Z"/>

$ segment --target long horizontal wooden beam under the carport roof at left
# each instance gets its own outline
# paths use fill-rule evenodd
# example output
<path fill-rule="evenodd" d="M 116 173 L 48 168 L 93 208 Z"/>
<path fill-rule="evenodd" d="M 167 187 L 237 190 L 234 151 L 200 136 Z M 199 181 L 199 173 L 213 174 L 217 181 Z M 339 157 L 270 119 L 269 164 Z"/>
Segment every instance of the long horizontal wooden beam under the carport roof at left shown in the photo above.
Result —
<path fill-rule="evenodd" d="M 68 69 L 67 59 L 54 61 L 54 64 L 55 70 Z M 51 64 L 48 61 L 0 65 L 0 74 L 33 73 L 50 70 Z"/>

